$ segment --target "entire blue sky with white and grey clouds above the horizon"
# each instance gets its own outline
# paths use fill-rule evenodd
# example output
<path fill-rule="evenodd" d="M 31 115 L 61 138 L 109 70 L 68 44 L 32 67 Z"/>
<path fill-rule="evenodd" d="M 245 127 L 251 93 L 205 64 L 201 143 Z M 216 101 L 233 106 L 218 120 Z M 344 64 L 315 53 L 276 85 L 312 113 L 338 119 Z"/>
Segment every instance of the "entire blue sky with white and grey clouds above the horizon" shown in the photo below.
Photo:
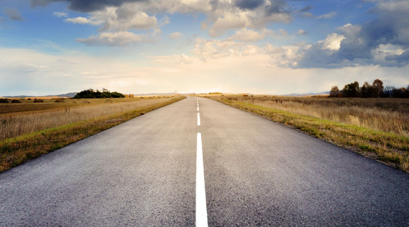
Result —
<path fill-rule="evenodd" d="M 409 0 L 1 0 L 0 96 L 409 84 Z"/>

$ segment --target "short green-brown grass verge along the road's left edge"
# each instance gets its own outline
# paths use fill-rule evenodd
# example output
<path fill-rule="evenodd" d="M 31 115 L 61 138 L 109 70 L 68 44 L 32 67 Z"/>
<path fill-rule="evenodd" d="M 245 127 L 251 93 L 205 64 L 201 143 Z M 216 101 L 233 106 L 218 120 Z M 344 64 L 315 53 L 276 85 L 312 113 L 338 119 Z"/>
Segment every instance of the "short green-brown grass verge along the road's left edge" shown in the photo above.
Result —
<path fill-rule="evenodd" d="M 186 97 L 0 141 L 0 172 Z"/>

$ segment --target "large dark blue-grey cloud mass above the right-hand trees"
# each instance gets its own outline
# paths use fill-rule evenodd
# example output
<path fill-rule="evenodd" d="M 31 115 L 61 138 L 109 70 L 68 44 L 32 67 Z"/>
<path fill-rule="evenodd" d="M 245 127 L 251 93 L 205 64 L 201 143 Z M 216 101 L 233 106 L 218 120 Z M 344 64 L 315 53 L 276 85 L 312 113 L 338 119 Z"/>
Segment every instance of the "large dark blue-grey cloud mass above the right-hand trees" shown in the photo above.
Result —
<path fill-rule="evenodd" d="M 344 39 L 339 49 L 324 42 L 301 48 L 297 68 L 342 68 L 359 65 L 402 67 L 409 64 L 409 1 L 381 2 L 367 13 L 378 18 L 364 24 L 339 27 Z M 398 54 L 400 50 L 404 50 Z M 395 52 L 395 53 L 394 53 Z"/>

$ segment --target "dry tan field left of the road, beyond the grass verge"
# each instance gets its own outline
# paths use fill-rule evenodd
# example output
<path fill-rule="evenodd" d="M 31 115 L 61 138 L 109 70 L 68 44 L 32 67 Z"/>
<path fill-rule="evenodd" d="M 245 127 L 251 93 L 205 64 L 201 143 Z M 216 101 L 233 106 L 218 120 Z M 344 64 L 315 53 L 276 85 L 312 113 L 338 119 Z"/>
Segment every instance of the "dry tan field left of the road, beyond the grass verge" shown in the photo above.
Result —
<path fill-rule="evenodd" d="M 106 103 L 112 100 L 112 103 Z M 21 100 L 0 104 L 0 141 L 60 125 L 166 102 L 171 98 L 72 99 L 64 102 Z M 90 103 L 82 103 L 90 102 Z"/>

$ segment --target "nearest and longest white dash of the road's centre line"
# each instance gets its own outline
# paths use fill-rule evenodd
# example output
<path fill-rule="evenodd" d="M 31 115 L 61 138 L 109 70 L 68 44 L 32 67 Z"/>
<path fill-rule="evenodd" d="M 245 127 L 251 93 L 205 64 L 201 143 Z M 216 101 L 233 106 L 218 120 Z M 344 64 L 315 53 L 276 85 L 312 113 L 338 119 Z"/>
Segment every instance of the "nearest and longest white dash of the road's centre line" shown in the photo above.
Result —
<path fill-rule="evenodd" d="M 199 116 L 199 113 L 198 113 Z M 196 226 L 207 227 L 205 173 L 203 170 L 202 134 L 198 133 L 196 150 Z"/>

